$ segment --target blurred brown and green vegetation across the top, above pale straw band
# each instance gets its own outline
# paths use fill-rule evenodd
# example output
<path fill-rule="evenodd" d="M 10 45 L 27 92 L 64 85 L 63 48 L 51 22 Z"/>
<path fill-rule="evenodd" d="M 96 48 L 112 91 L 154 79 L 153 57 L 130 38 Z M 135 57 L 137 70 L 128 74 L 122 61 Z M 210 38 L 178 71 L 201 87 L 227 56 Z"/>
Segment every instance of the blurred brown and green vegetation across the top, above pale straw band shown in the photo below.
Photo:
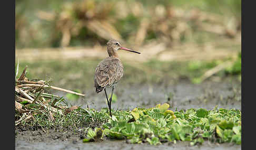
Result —
<path fill-rule="evenodd" d="M 241 32 L 241 1 L 16 1 L 16 47 L 202 43 Z"/>

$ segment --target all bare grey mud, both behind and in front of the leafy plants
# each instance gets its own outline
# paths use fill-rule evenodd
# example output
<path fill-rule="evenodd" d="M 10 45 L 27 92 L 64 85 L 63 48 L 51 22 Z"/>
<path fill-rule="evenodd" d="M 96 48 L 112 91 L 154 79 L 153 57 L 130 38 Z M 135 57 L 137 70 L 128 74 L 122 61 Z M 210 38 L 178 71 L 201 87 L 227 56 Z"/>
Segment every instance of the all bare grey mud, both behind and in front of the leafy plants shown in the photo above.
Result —
<path fill-rule="evenodd" d="M 106 108 L 104 92 L 95 93 L 95 89 L 84 89 L 86 98 L 71 102 L 82 108 L 100 110 Z M 110 92 L 110 90 L 109 90 Z M 65 96 L 65 93 L 55 93 Z M 241 82 L 230 78 L 222 81 L 205 81 L 192 84 L 182 80 L 170 85 L 122 85 L 115 89 L 117 101 L 113 103 L 114 110 L 132 110 L 139 106 L 150 108 L 159 103 L 169 103 L 171 110 L 190 108 L 213 109 L 215 105 L 225 109 L 241 110 Z M 125 140 L 112 141 L 105 139 L 100 143 L 82 143 L 84 132 L 58 129 L 43 130 L 40 128 L 15 127 L 16 149 L 241 149 L 241 145 L 232 143 L 218 144 L 204 142 L 201 146 L 189 146 L 190 143 L 164 143 L 158 146 L 149 144 L 127 144 Z"/>

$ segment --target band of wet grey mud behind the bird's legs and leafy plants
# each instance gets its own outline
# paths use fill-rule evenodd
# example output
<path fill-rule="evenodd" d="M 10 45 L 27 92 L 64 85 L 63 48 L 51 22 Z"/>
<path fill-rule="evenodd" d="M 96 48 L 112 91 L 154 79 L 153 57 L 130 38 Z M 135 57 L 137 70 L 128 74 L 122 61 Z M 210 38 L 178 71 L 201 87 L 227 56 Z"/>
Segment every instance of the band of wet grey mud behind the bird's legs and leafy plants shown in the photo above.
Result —
<path fill-rule="evenodd" d="M 107 89 L 111 92 L 111 89 Z M 100 110 L 106 108 L 104 91 L 95 93 L 95 89 L 85 91 L 88 93 L 84 99 L 71 102 L 74 105 Z M 241 110 L 241 82 L 230 81 L 204 82 L 192 84 L 189 81 L 181 81 L 171 85 L 117 85 L 114 93 L 117 101 L 112 103 L 114 110 L 132 110 L 136 107 L 150 108 L 159 103 L 169 103 L 171 110 L 181 109 L 213 109 L 215 105 L 224 109 Z M 61 95 L 62 93 L 58 93 Z M 110 93 L 109 93 L 110 95 Z M 65 95 L 63 95 L 65 96 Z"/>

